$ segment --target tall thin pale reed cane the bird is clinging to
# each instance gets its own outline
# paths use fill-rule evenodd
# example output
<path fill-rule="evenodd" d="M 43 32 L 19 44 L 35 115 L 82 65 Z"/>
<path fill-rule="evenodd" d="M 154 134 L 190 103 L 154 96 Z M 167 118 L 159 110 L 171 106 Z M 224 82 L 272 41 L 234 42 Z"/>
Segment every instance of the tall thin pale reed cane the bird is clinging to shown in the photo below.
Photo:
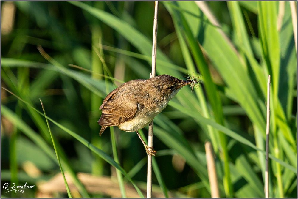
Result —
<path fill-rule="evenodd" d="M 155 77 L 156 67 L 156 36 L 157 36 L 157 11 L 158 1 L 154 3 L 154 19 L 153 19 L 153 42 L 152 42 L 152 69 L 150 78 Z M 148 146 L 153 146 L 153 120 L 149 124 L 148 129 Z M 152 196 L 152 156 L 148 154 L 147 157 L 147 198 Z"/>

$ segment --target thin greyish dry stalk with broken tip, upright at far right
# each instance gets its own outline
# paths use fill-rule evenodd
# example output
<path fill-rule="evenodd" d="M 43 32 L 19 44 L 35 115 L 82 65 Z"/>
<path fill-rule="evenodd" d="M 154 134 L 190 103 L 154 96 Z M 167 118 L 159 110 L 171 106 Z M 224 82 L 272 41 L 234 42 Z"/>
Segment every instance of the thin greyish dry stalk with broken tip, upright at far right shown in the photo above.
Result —
<path fill-rule="evenodd" d="M 267 122 L 266 122 L 266 170 L 265 170 L 265 197 L 269 198 L 269 124 L 270 124 L 270 75 L 267 83 Z"/>

